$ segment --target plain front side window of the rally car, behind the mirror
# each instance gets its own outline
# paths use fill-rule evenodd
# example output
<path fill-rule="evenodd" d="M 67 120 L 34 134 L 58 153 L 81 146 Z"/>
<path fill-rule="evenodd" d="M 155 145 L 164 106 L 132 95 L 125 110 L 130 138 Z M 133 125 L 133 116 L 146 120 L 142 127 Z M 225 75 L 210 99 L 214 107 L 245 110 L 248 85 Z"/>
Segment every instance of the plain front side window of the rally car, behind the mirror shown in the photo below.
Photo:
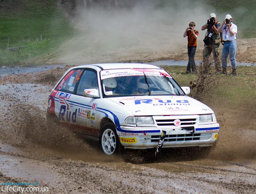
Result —
<path fill-rule="evenodd" d="M 84 95 L 85 89 L 98 89 L 97 73 L 91 70 L 84 70 L 81 80 L 77 86 L 76 94 Z"/>

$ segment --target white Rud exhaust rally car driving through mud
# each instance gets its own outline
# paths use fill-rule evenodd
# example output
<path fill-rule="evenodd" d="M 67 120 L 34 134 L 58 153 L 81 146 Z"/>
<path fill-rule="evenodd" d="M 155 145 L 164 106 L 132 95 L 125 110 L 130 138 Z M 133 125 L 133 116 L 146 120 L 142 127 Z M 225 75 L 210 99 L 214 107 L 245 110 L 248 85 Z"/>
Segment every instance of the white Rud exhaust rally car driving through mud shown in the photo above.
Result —
<path fill-rule="evenodd" d="M 140 63 L 70 68 L 52 89 L 47 119 L 120 148 L 212 146 L 220 125 L 211 108 L 187 96 L 161 67 Z"/>

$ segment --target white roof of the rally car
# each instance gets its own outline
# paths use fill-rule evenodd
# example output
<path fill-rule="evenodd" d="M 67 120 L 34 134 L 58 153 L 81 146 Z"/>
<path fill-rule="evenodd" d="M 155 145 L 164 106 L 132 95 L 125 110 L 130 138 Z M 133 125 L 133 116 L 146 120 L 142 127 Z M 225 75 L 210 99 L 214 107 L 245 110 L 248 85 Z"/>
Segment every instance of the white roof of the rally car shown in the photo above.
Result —
<path fill-rule="evenodd" d="M 108 70 L 108 69 L 162 69 L 161 67 L 158 67 L 156 65 L 150 65 L 150 64 L 144 64 L 144 63 L 99 63 L 99 64 L 88 64 L 88 65 L 79 65 L 76 67 L 73 67 L 71 69 L 75 68 L 93 68 L 100 70 Z"/>

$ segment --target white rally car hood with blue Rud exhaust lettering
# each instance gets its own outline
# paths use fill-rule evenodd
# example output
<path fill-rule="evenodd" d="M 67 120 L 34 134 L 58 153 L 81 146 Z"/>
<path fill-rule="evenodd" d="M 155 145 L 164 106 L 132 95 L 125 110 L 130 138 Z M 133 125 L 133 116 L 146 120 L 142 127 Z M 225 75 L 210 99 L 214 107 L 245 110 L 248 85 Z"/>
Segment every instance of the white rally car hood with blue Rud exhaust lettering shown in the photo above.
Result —
<path fill-rule="evenodd" d="M 213 113 L 211 108 L 188 96 L 131 96 L 108 99 L 130 110 L 135 116 Z"/>

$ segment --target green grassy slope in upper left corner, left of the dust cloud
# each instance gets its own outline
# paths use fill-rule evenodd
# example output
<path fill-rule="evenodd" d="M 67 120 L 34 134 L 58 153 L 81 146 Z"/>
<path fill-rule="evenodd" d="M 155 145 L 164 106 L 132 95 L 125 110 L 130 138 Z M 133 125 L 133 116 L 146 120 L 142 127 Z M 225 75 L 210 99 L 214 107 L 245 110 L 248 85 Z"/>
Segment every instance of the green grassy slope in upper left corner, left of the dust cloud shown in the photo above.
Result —
<path fill-rule="evenodd" d="M 42 4 L 33 0 L 24 2 L 28 6 L 24 5 L 21 10 L 1 14 L 0 66 L 44 63 L 44 59 L 47 60 L 74 34 L 73 27 L 57 9 L 55 1 Z M 18 50 L 8 49 L 21 46 Z"/>

